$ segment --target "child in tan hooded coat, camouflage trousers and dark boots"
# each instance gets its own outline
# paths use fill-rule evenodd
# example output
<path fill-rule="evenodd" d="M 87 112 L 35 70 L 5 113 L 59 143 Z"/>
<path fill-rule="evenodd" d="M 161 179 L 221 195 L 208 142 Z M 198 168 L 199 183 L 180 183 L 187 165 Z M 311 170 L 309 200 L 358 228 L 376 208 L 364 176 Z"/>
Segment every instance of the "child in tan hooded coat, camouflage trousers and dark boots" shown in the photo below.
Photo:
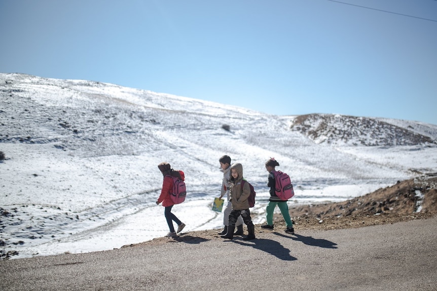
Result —
<path fill-rule="evenodd" d="M 247 198 L 250 195 L 249 183 L 241 183 L 243 181 L 243 165 L 241 163 L 234 163 L 231 165 L 231 192 L 230 201 L 232 203 L 232 211 L 229 214 L 228 233 L 222 235 L 222 238 L 233 239 L 235 223 L 241 215 L 244 223 L 247 225 L 248 235 L 244 236 L 244 240 L 255 238 L 255 226 L 250 218 L 249 201 Z"/>

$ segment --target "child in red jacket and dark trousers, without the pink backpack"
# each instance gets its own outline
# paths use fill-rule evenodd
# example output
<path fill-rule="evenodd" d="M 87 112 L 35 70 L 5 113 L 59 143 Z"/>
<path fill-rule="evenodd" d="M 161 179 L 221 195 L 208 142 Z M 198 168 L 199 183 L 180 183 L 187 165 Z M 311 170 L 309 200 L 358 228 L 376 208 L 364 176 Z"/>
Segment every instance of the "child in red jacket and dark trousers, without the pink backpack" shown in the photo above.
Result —
<path fill-rule="evenodd" d="M 156 204 L 159 205 L 159 203 L 162 202 L 162 206 L 165 207 L 164 216 L 167 220 L 168 228 L 170 229 L 170 232 L 167 233 L 166 236 L 175 236 L 176 233 L 179 233 L 184 229 L 185 224 L 181 222 L 173 213 L 171 213 L 174 203 L 171 200 L 170 195 L 173 191 L 172 177 L 177 177 L 179 179 L 181 179 L 181 177 L 178 171 L 171 169 L 171 166 L 168 162 L 160 163 L 158 165 L 158 169 L 161 171 L 162 176 L 164 176 L 164 180 L 162 182 L 161 194 L 159 195 L 158 200 L 156 200 Z M 176 232 L 174 231 L 173 221 L 178 225 Z"/>

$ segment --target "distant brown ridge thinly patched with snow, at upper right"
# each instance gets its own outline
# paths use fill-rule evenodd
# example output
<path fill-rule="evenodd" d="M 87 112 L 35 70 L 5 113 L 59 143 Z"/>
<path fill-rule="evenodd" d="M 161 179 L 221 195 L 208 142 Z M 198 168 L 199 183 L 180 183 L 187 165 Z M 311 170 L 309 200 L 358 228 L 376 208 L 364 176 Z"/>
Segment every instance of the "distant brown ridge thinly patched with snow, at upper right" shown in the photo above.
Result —
<path fill-rule="evenodd" d="M 404 121 L 403 126 L 406 127 L 403 127 L 399 121 L 339 114 L 306 114 L 298 116 L 290 128 L 301 132 L 315 143 L 332 145 L 437 144 L 437 127 L 414 121 Z"/>

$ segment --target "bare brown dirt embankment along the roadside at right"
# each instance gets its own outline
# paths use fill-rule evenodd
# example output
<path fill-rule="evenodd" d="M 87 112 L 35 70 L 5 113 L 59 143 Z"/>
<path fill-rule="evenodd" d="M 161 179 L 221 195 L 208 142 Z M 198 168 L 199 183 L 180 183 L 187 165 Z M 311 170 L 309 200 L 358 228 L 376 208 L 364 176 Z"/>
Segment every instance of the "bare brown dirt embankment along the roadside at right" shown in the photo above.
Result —
<path fill-rule="evenodd" d="M 395 223 L 437 214 L 437 174 L 337 203 L 293 207 L 297 229 L 338 229 Z M 277 217 L 280 220 L 280 217 Z"/>

